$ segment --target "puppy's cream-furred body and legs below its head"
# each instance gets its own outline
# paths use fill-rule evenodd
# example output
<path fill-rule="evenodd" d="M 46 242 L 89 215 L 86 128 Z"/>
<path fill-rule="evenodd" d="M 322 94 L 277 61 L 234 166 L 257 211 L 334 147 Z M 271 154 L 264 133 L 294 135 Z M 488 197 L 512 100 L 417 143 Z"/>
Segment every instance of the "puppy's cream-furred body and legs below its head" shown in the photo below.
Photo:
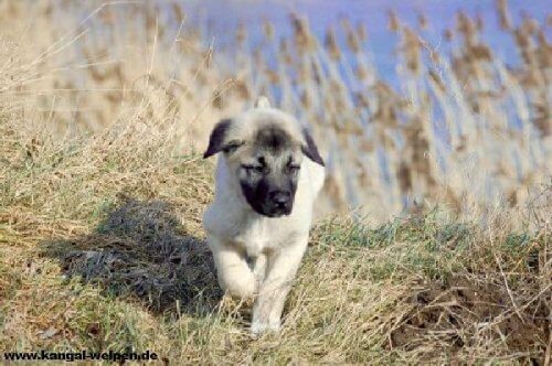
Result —
<path fill-rule="evenodd" d="M 233 297 L 255 297 L 253 334 L 277 331 L 307 248 L 312 204 L 322 187 L 325 169 L 302 159 L 294 208 L 290 215 L 276 218 L 253 211 L 223 154 L 215 174 L 215 197 L 203 216 L 203 226 L 219 283 Z"/>

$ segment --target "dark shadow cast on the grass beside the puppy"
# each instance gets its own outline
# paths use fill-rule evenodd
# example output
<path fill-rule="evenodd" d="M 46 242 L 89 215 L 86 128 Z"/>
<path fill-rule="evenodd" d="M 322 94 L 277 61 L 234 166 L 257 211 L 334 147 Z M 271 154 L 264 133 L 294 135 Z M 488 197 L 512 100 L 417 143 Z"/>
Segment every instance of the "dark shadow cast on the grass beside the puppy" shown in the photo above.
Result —
<path fill-rule="evenodd" d="M 93 234 L 43 243 L 67 278 L 135 297 L 155 313 L 211 312 L 222 298 L 204 240 L 184 232 L 170 204 L 127 198 Z"/>

